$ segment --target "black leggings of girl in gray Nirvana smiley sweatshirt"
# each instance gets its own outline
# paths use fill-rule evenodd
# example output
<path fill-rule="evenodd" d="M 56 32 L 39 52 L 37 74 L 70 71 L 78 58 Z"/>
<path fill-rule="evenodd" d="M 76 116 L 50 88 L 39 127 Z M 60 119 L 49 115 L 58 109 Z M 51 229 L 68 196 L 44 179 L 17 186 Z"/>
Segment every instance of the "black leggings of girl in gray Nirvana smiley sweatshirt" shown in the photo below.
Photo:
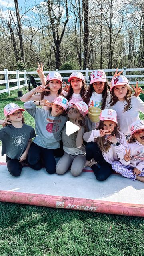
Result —
<path fill-rule="evenodd" d="M 40 159 L 44 162 L 44 167 L 49 174 L 56 172 L 56 160 L 54 158 L 54 150 L 42 148 L 32 142 L 28 150 L 28 162 L 32 165 L 38 163 Z"/>

